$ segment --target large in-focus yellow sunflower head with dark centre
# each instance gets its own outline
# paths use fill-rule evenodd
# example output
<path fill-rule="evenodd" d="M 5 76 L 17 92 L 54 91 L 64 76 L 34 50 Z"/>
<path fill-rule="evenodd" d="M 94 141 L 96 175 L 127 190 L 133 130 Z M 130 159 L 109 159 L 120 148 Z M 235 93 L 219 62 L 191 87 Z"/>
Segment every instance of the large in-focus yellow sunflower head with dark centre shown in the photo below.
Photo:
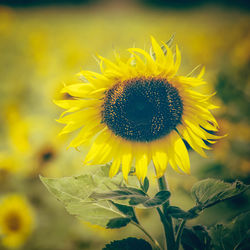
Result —
<path fill-rule="evenodd" d="M 206 84 L 204 68 L 197 77 L 176 76 L 181 62 L 164 42 L 151 37 L 151 52 L 130 48 L 130 56 L 115 53 L 115 61 L 102 56 L 101 74 L 79 73 L 82 82 L 65 86 L 73 100 L 55 103 L 66 109 L 59 122 L 66 124 L 61 134 L 80 129 L 70 147 L 90 149 L 85 164 L 112 162 L 110 177 L 120 167 L 127 179 L 131 166 L 139 180 L 144 180 L 152 161 L 157 177 L 168 165 L 178 172 L 190 173 L 184 140 L 200 155 L 206 156 L 204 143 L 219 138 L 218 124 L 210 113 L 216 108 L 205 95 L 194 90 Z M 70 114 L 69 114 L 70 113 Z"/>

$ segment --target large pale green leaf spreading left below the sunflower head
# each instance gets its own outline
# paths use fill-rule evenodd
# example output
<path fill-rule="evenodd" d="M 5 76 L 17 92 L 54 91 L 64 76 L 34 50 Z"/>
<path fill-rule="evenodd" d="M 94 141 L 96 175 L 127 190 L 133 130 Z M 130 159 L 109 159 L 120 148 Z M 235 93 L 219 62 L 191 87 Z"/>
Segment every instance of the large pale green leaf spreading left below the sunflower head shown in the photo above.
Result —
<path fill-rule="evenodd" d="M 109 200 L 96 200 L 91 197 L 91 194 L 101 190 L 107 191 L 117 188 L 121 183 L 121 176 L 116 179 L 108 178 L 107 170 L 107 167 L 102 167 L 94 173 L 81 176 L 40 178 L 47 189 L 64 204 L 70 214 L 92 224 L 105 227 L 114 218 L 127 217 Z M 132 214 L 133 216 L 134 214 Z"/>

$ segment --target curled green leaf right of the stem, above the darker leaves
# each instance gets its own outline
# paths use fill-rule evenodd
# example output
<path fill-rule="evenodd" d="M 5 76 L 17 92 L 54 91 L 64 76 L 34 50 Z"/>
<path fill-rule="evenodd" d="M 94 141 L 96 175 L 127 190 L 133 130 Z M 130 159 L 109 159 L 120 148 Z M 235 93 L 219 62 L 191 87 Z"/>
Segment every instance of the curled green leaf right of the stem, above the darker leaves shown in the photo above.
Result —
<path fill-rule="evenodd" d="M 245 192 L 249 186 L 240 181 L 227 183 L 216 179 L 205 179 L 194 184 L 191 195 L 202 208 L 207 208 L 225 199 Z"/>

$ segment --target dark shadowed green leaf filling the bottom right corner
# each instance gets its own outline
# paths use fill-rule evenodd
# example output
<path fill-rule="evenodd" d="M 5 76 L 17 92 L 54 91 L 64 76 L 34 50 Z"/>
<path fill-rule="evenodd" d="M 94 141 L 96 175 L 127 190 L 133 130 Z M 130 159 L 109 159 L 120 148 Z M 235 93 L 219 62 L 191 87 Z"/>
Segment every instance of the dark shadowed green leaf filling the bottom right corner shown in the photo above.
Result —
<path fill-rule="evenodd" d="M 250 211 L 237 216 L 227 225 L 210 228 L 214 249 L 250 249 Z"/>

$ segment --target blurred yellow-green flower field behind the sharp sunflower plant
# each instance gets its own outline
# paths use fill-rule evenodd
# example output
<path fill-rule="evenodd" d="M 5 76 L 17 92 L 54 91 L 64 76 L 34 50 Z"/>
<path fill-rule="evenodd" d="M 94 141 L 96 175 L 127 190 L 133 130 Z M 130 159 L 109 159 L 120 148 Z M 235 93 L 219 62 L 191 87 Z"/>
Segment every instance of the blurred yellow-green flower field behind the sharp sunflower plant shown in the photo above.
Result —
<path fill-rule="evenodd" d="M 81 69 L 99 71 L 96 53 L 112 58 L 114 49 L 149 49 L 150 35 L 167 41 L 175 34 L 174 44 L 182 52 L 179 74 L 206 66 L 209 90 L 217 92 L 214 102 L 221 106 L 215 113 L 220 133 L 228 134 L 208 152 L 208 159 L 190 152 L 191 176 L 168 169 L 172 204 L 191 208 L 190 189 L 202 178 L 250 184 L 249 7 L 244 0 L 0 1 L 0 197 L 26 197 L 35 217 L 34 230 L 20 249 L 101 249 L 113 239 L 144 237 L 133 225 L 111 231 L 78 221 L 38 175 L 86 171 L 84 152 L 66 150 L 72 137 L 57 136 L 62 126 L 55 119 L 62 110 L 52 100 L 65 98 L 59 91 L 63 82 L 70 84 Z M 189 223 L 225 222 L 248 207 L 244 194 Z M 162 241 L 157 215 L 138 212 Z"/>

